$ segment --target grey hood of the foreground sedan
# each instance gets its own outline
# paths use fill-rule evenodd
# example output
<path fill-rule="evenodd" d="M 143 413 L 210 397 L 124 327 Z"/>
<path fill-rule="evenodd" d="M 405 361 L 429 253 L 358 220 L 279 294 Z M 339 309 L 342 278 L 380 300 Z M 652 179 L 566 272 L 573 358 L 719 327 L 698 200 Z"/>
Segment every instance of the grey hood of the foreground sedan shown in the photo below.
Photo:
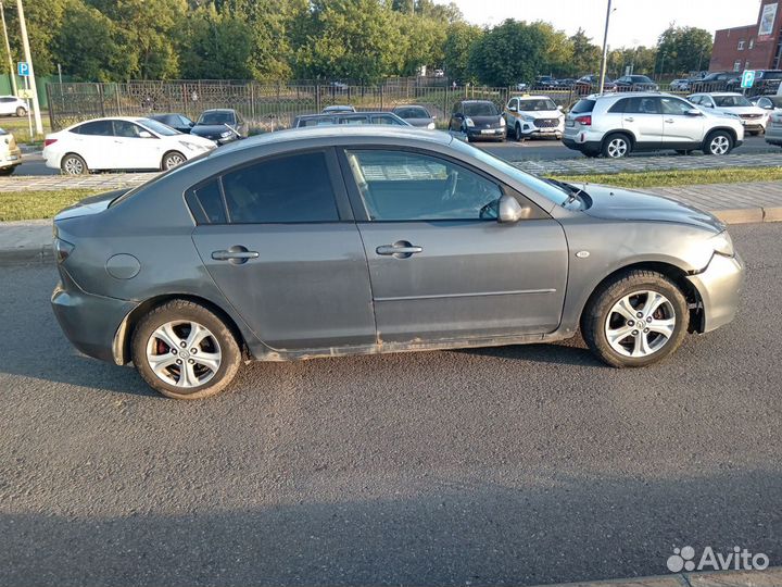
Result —
<path fill-rule="evenodd" d="M 576 184 L 576 187 L 582 185 Z M 672 198 L 593 184 L 588 184 L 583 190 L 592 199 L 592 205 L 585 212 L 595 218 L 676 222 L 715 233 L 724 230 L 724 224 L 712 214 Z"/>

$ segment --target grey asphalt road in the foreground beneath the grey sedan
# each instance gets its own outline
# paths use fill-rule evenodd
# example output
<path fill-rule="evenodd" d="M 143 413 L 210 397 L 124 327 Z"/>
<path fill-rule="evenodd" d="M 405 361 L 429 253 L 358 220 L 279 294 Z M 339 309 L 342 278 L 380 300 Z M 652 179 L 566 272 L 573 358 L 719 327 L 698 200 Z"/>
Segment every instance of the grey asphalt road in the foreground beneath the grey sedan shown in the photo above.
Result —
<path fill-rule="evenodd" d="M 782 225 L 666 363 L 582 342 L 256 363 L 181 402 L 79 357 L 0 268 L 1 585 L 531 585 L 782 561 Z"/>

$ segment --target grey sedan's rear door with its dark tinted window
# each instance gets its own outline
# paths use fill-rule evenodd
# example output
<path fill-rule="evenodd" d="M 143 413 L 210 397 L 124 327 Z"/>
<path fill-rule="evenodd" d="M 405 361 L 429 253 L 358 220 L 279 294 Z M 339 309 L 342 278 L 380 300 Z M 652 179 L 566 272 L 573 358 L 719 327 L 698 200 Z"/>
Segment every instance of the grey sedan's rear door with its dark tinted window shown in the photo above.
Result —
<path fill-rule="evenodd" d="M 366 258 L 333 149 L 256 160 L 186 198 L 206 270 L 267 346 L 375 344 Z"/>

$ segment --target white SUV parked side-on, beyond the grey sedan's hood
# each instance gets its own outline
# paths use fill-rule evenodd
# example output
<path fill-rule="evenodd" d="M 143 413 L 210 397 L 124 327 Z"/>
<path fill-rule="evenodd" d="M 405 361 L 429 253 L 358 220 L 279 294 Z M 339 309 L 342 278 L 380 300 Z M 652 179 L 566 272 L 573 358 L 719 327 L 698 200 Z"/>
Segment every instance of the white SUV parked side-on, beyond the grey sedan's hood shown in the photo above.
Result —
<path fill-rule="evenodd" d="M 658 92 L 593 95 L 565 120 L 563 143 L 586 157 L 618 159 L 631 151 L 703 150 L 722 155 L 744 142 L 736 116 L 704 112 L 677 96 Z"/>

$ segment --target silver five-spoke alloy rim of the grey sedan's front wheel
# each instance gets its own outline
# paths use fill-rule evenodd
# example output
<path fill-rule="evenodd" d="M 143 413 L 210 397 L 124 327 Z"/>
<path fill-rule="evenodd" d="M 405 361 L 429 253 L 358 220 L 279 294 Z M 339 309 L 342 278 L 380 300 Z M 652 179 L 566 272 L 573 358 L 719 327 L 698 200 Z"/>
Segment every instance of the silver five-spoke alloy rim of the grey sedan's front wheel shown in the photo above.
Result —
<path fill-rule="evenodd" d="M 676 312 L 658 291 L 641 290 L 625 296 L 608 312 L 608 345 L 623 357 L 643 358 L 665 347 L 676 330 Z"/>

